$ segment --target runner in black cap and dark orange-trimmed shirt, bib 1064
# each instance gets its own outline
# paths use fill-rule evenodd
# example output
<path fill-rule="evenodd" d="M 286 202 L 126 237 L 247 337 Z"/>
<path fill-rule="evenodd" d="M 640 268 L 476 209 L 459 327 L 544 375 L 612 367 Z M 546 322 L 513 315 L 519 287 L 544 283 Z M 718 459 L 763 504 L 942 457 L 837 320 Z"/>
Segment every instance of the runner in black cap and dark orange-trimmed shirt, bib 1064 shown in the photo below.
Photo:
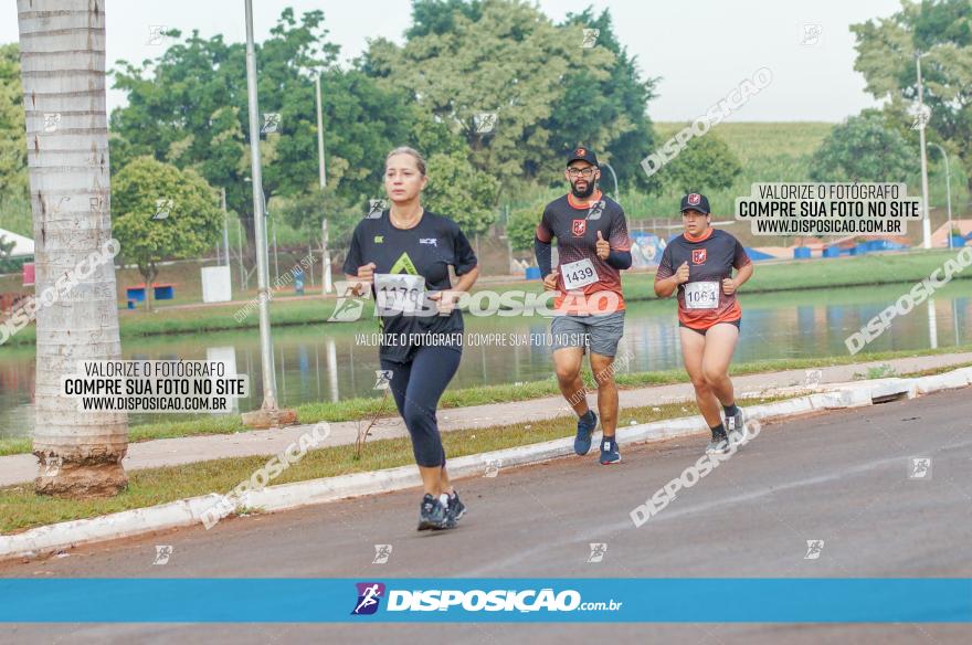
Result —
<path fill-rule="evenodd" d="M 685 370 L 699 412 L 712 431 L 707 453 L 729 452 L 727 436 L 742 433 L 742 410 L 729 379 L 742 309 L 736 293 L 752 276 L 752 262 L 739 240 L 711 226 L 709 200 L 697 192 L 682 198 L 685 232 L 662 253 L 655 295 L 678 292 L 678 326 Z M 732 277 L 732 269 L 736 277 Z M 721 410 L 720 410 L 721 404 Z M 726 423 L 719 415 L 726 415 Z"/>

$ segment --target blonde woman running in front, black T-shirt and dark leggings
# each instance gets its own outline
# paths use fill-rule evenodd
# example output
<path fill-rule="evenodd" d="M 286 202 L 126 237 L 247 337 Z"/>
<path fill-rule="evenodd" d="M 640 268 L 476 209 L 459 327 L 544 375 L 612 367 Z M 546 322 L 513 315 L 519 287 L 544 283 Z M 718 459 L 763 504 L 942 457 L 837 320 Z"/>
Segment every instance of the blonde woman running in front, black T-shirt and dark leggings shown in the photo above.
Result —
<path fill-rule="evenodd" d="M 462 358 L 463 317 L 455 303 L 479 268 L 458 224 L 422 208 L 429 182 L 422 156 L 395 148 L 384 167 L 391 209 L 358 223 L 344 272 L 359 287 L 367 283 L 376 296 L 381 369 L 385 378 L 390 374 L 425 494 L 419 530 L 453 528 L 465 505 L 448 479 L 435 409 Z M 455 286 L 450 266 L 458 276 Z"/>

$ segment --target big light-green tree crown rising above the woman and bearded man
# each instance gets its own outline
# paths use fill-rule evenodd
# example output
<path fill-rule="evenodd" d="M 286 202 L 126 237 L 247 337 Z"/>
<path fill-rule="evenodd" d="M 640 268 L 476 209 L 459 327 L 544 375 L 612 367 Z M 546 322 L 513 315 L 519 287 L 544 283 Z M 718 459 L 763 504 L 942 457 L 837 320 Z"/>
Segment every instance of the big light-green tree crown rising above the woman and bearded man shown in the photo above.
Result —
<path fill-rule="evenodd" d="M 556 181 L 562 159 L 549 120 L 567 92 L 564 80 L 584 67 L 589 78 L 606 82 L 614 54 L 582 49 L 580 27 L 558 28 L 518 0 L 484 0 L 466 9 L 454 1 L 414 7 L 414 15 L 430 21 L 412 30 L 422 35 L 403 46 L 371 41 L 362 70 L 408 92 L 420 109 L 465 140 L 475 168 L 504 186 Z M 452 13 L 446 18 L 441 11 Z M 496 115 L 495 125 L 480 115 Z M 595 126 L 585 133 L 592 145 L 627 127 L 621 121 Z"/>

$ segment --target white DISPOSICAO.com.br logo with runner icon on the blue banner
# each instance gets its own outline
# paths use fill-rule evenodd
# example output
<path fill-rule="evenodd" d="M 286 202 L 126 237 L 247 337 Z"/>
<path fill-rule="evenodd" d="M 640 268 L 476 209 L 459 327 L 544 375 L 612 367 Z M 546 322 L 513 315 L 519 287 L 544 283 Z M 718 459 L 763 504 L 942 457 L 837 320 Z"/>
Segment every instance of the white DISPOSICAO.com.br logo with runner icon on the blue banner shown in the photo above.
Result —
<path fill-rule="evenodd" d="M 552 588 L 537 589 L 390 589 L 380 582 L 356 584 L 358 601 L 355 615 L 374 614 L 381 596 L 388 598 L 388 612 L 613 612 L 621 610 L 622 602 L 584 602 L 579 591 Z"/>

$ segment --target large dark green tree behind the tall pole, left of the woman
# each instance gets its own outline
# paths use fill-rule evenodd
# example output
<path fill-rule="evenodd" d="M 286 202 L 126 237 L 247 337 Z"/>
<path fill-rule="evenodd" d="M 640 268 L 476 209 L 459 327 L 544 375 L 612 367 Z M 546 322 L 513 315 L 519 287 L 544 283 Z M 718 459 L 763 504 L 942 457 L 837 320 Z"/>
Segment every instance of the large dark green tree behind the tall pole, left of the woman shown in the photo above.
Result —
<path fill-rule="evenodd" d="M 317 183 L 316 74 L 321 74 L 328 186 L 342 199 L 378 197 L 384 155 L 416 142 L 411 135 L 415 108 L 405 94 L 381 88 L 359 71 L 338 68 L 338 47 L 327 34 L 323 12 L 304 13 L 298 21 L 285 9 L 270 38 L 256 45 L 261 112 L 281 116 L 277 130 L 261 141 L 267 200 L 295 197 Z M 245 45 L 193 32 L 156 61 L 119 62 L 114 76 L 115 87 L 128 95 L 128 105 L 112 114 L 112 131 L 123 139 L 118 148 L 126 160 L 151 155 L 193 168 L 226 189 L 229 208 L 252 234 L 252 189 L 244 181 L 250 176 Z"/>

